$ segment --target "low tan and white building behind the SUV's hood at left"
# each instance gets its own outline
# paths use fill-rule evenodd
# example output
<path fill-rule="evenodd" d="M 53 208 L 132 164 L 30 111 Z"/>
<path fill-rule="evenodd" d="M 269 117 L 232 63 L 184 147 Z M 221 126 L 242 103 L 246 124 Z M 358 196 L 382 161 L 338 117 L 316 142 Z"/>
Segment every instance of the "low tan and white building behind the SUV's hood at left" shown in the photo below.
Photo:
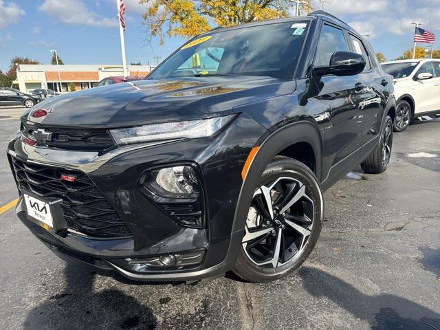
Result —
<path fill-rule="evenodd" d="M 127 65 L 130 76 L 140 78 L 151 71 L 149 65 Z M 71 83 L 75 90 L 89 89 L 109 76 L 123 76 L 122 65 L 17 65 L 17 80 L 20 91 L 30 93 L 34 89 L 52 89 L 56 92 L 71 91 Z"/>

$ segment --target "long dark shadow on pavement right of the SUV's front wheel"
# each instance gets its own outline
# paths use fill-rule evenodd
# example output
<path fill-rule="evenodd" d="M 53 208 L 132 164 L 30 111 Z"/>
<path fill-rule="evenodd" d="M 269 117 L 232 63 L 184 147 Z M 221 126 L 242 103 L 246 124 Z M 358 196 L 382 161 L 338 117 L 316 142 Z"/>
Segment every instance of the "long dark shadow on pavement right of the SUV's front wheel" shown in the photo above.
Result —
<path fill-rule="evenodd" d="M 356 318 L 367 320 L 373 330 L 440 329 L 440 314 L 408 299 L 392 294 L 363 294 L 353 285 L 315 267 L 303 267 L 298 275 L 309 294 L 329 298 Z"/>

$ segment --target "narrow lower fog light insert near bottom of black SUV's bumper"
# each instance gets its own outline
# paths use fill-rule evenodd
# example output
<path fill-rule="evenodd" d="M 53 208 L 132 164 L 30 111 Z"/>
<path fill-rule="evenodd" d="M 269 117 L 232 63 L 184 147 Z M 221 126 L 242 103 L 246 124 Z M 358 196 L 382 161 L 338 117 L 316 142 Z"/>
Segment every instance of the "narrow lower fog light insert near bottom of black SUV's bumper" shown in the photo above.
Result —
<path fill-rule="evenodd" d="M 151 270 L 192 268 L 200 265 L 205 256 L 204 251 L 189 252 L 184 254 L 164 254 L 142 259 L 125 259 L 135 272 L 148 272 Z"/>

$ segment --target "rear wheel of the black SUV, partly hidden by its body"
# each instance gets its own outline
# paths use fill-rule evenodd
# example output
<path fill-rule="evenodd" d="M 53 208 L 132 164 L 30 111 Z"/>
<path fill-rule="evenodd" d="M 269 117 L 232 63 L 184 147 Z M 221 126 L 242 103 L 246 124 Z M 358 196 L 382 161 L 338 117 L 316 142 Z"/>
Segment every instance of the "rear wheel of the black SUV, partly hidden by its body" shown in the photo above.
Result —
<path fill-rule="evenodd" d="M 367 159 L 360 164 L 365 173 L 379 174 L 386 170 L 393 148 L 393 120 L 386 116 L 377 147 Z"/>

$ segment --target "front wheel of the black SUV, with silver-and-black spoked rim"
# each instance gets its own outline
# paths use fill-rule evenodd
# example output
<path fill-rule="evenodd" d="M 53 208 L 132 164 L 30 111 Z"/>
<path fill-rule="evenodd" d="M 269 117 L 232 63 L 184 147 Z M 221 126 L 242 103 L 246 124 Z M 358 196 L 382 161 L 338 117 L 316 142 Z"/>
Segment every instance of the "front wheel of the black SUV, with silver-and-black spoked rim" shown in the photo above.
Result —
<path fill-rule="evenodd" d="M 254 192 L 233 272 L 257 283 L 296 270 L 318 241 L 322 215 L 314 173 L 295 159 L 276 157 Z"/>

